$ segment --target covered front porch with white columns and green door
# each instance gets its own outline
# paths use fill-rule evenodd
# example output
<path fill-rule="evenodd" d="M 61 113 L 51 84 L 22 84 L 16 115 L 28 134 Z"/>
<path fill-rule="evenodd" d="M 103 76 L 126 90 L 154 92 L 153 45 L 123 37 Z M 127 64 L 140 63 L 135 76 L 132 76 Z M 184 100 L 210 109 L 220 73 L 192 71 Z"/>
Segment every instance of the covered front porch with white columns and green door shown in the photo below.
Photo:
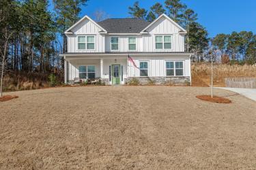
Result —
<path fill-rule="evenodd" d="M 105 84 L 125 84 L 126 56 L 65 56 L 65 83 L 74 80 L 102 80 Z"/>

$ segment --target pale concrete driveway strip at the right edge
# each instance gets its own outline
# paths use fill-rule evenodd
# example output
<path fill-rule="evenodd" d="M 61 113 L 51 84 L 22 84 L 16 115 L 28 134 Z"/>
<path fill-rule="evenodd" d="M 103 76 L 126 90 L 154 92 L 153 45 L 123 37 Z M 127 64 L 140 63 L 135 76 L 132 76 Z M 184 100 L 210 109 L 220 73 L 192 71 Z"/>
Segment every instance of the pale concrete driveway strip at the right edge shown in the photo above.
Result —
<path fill-rule="evenodd" d="M 253 101 L 256 101 L 256 89 L 254 88 L 229 88 L 229 87 L 216 87 L 216 88 L 230 90 L 232 92 L 236 92 L 240 95 L 243 95 L 249 99 L 252 99 Z"/>

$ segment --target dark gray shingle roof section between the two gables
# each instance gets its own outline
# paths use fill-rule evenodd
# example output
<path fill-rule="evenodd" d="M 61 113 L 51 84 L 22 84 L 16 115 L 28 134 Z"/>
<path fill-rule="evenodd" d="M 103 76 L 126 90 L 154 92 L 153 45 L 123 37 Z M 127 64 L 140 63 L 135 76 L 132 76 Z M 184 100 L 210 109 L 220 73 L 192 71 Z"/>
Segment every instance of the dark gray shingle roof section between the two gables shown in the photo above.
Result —
<path fill-rule="evenodd" d="M 150 22 L 136 18 L 112 18 L 98 24 L 108 33 L 140 33 Z"/>

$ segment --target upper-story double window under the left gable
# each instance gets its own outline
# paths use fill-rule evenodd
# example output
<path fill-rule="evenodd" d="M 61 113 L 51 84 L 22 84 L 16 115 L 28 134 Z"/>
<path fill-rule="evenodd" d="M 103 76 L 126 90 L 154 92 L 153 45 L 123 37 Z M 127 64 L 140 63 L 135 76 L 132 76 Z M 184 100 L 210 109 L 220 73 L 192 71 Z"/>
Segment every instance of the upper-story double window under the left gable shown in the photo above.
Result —
<path fill-rule="evenodd" d="M 95 50 L 95 36 L 94 35 L 78 36 L 78 49 L 79 50 Z"/>

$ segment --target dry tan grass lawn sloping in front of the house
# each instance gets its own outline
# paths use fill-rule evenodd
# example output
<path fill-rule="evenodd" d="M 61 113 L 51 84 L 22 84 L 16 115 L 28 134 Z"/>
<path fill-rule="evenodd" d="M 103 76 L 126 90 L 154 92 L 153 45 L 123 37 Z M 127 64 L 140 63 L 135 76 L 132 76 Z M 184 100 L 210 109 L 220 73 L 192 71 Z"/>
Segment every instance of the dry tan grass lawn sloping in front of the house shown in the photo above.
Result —
<path fill-rule="evenodd" d="M 255 169 L 256 103 L 210 88 L 91 86 L 10 92 L 0 169 Z"/>

